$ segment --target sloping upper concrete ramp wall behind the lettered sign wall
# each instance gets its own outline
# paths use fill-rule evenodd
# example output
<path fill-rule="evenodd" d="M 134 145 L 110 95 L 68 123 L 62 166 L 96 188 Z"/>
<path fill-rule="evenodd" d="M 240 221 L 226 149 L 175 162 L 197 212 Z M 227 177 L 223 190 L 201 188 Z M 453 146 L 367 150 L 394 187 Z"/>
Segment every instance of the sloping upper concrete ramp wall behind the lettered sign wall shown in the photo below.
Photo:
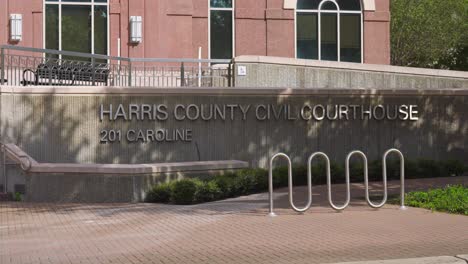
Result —
<path fill-rule="evenodd" d="M 239 67 L 246 74 L 239 74 Z M 236 87 L 329 89 L 468 88 L 468 72 L 389 65 L 240 56 L 235 59 Z"/>

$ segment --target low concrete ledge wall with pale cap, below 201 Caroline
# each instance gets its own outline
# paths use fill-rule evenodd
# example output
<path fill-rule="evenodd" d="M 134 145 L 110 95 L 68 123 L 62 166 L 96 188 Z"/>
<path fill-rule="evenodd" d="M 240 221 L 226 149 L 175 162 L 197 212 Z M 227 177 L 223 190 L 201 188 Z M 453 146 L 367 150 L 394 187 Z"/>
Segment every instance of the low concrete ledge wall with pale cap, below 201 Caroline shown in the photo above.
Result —
<path fill-rule="evenodd" d="M 141 202 L 156 183 L 185 177 L 207 177 L 243 169 L 237 160 L 155 164 L 39 163 L 14 144 L 6 155 L 21 166 L 29 202 Z"/>

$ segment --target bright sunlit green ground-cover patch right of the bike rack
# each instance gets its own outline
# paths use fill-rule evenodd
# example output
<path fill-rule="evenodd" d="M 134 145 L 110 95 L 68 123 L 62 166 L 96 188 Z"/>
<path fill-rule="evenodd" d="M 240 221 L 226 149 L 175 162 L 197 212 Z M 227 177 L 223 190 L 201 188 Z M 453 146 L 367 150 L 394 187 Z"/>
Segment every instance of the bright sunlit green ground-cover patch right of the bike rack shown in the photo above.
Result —
<path fill-rule="evenodd" d="M 400 203 L 399 198 L 389 201 L 392 204 Z M 468 187 L 447 185 L 445 188 L 409 192 L 405 196 L 405 204 L 432 211 L 468 215 Z"/>

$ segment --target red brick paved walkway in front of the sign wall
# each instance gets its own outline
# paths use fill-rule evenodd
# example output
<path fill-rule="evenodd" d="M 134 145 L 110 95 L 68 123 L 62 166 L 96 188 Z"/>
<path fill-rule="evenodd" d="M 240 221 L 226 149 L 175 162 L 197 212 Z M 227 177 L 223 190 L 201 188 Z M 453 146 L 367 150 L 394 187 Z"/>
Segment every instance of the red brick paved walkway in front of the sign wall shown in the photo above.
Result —
<path fill-rule="evenodd" d="M 468 177 L 407 180 L 407 189 L 446 183 Z M 389 187 L 398 193 L 397 182 Z M 303 187 L 295 190 L 305 197 Z M 304 215 L 286 209 L 287 190 L 278 190 L 275 218 L 266 216 L 266 193 L 195 206 L 0 203 L 0 263 L 330 263 L 468 253 L 468 217 L 372 210 L 359 184 L 351 207 L 335 213 L 325 190 L 314 187 Z"/>

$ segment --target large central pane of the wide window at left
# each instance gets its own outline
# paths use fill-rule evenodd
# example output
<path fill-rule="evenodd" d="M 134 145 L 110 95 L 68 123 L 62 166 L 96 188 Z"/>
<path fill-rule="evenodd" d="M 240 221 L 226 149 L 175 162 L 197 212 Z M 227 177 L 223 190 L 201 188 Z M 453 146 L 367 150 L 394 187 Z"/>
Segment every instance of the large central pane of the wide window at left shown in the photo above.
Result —
<path fill-rule="evenodd" d="M 62 50 L 91 53 L 91 6 L 62 6 Z"/>

